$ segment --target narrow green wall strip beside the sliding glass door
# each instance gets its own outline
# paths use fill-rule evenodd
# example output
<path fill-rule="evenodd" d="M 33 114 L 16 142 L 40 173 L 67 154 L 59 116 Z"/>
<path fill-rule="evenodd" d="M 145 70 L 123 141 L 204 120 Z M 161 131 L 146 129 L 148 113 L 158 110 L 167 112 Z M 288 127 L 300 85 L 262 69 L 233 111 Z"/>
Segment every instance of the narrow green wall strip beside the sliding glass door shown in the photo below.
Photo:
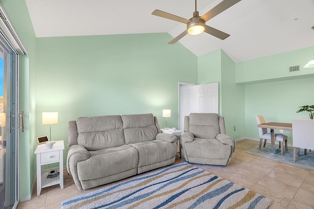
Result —
<path fill-rule="evenodd" d="M 10 17 L 29 56 L 22 55 L 20 63 L 20 110 L 24 111 L 24 133 L 20 132 L 20 198 L 29 199 L 35 176 L 34 151 L 37 146 L 35 128 L 35 62 L 36 37 L 24 0 L 0 0 Z M 31 128 L 30 128 L 31 127 Z M 34 167 L 35 166 L 35 167 Z"/>

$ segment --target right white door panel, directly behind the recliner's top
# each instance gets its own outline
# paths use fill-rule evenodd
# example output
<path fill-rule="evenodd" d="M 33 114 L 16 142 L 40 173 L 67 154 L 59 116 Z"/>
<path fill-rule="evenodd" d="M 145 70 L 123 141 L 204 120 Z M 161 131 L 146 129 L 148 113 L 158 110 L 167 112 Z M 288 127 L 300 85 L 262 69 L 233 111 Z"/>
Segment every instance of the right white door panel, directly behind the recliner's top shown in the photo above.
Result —
<path fill-rule="evenodd" d="M 196 113 L 218 114 L 218 83 L 195 86 Z"/>

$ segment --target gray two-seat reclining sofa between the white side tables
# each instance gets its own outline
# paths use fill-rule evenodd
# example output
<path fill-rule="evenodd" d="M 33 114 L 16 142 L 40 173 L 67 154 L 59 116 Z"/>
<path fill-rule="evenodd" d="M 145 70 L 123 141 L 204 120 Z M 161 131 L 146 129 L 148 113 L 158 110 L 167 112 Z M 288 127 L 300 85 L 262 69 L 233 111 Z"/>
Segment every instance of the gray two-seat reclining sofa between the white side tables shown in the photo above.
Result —
<path fill-rule="evenodd" d="M 67 170 L 78 189 L 172 164 L 178 145 L 153 114 L 79 117 L 69 122 L 68 140 Z"/>

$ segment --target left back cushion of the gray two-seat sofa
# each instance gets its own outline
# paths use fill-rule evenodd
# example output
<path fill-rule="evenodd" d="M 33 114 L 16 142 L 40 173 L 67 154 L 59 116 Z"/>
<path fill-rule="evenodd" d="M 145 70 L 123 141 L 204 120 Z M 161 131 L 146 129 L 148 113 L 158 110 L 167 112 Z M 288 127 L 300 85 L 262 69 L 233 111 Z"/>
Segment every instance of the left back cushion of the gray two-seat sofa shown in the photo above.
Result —
<path fill-rule="evenodd" d="M 79 117 L 78 144 L 88 151 L 125 144 L 121 116 Z"/>

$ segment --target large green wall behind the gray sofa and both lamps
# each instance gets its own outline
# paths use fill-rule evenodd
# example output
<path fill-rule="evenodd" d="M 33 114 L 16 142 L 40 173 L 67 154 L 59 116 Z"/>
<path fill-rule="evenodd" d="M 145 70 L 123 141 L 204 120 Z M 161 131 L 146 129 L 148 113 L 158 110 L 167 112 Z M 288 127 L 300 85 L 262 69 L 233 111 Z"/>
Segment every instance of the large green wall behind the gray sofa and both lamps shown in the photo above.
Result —
<path fill-rule="evenodd" d="M 49 135 L 41 113 L 58 112 L 52 139 L 67 144 L 79 116 L 153 113 L 178 126 L 178 82 L 197 82 L 197 57 L 166 33 L 37 39 L 37 136 Z M 65 156 L 67 147 L 64 151 Z M 66 159 L 64 159 L 66 163 Z"/>

